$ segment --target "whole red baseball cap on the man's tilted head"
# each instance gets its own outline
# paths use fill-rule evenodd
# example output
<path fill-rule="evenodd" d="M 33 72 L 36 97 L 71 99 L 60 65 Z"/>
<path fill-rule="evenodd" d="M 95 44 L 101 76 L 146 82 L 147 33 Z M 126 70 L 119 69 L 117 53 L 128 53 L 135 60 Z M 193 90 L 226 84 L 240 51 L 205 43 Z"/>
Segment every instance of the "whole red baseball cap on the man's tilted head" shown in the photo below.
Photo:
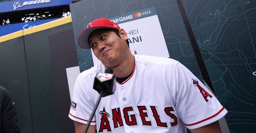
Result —
<path fill-rule="evenodd" d="M 78 37 L 78 44 L 80 45 L 81 48 L 84 49 L 90 49 L 90 45 L 88 42 L 88 38 L 93 31 L 100 29 L 100 28 L 116 28 L 120 29 L 119 25 L 116 23 L 108 20 L 105 17 L 99 18 L 97 20 L 93 20 L 90 22 L 87 27 L 82 31 Z"/>

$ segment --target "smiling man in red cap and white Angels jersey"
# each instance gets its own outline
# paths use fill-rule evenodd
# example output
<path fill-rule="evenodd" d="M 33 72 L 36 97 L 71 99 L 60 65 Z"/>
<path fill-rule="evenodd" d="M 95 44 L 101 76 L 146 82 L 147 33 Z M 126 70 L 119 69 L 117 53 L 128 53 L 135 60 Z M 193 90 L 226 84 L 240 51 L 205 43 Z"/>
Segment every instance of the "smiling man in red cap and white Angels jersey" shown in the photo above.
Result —
<path fill-rule="evenodd" d="M 69 117 L 82 133 L 99 97 L 93 90 L 98 72 L 113 68 L 116 91 L 103 97 L 87 133 L 221 133 L 218 119 L 227 110 L 182 64 L 174 59 L 132 55 L 127 34 L 106 18 L 88 24 L 79 45 L 92 48 L 102 62 L 76 79 Z M 157 44 L 156 44 L 157 45 Z"/>

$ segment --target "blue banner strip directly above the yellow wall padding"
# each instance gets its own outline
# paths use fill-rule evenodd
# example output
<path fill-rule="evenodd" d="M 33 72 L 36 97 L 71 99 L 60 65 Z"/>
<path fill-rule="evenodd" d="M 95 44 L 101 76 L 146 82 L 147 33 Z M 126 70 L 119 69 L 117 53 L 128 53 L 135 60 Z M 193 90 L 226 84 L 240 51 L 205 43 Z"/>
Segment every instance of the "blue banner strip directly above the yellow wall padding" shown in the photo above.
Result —
<path fill-rule="evenodd" d="M 60 18 L 60 17 L 59 17 Z M 27 22 L 27 23 L 15 23 L 11 25 L 0 25 L 0 37 L 11 34 L 16 31 L 25 30 L 27 28 L 34 27 L 36 25 L 41 25 L 43 23 L 47 23 L 53 20 L 57 20 L 59 18 L 53 18 L 53 19 L 47 19 L 47 20 L 38 20 L 33 22 Z"/>

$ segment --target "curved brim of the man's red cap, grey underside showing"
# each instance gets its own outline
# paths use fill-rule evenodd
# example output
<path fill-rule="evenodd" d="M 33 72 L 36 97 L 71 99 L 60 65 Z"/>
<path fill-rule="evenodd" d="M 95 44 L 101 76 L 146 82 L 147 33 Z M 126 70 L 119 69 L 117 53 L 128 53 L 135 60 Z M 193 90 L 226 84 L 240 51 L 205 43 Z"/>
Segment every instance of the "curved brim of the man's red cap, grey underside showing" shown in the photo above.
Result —
<path fill-rule="evenodd" d="M 89 45 L 88 38 L 89 38 L 90 34 L 93 33 L 93 31 L 100 29 L 100 28 L 112 28 L 112 27 L 99 26 L 99 27 L 91 27 L 91 28 L 85 29 L 84 31 L 82 31 L 80 33 L 80 35 L 78 37 L 78 44 L 80 45 L 80 47 L 84 48 L 84 49 L 90 49 L 91 47 Z"/>

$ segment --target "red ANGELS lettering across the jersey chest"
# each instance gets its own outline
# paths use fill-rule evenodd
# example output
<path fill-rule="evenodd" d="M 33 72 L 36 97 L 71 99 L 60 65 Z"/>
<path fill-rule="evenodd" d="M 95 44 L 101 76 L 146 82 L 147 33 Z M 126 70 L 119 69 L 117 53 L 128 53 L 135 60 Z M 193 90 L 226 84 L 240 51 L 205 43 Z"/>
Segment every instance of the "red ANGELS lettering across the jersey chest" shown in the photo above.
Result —
<path fill-rule="evenodd" d="M 163 110 L 157 110 L 156 106 L 148 106 L 148 108 L 147 106 L 136 106 L 135 108 L 137 108 L 139 112 L 136 112 L 134 110 L 134 107 L 125 107 L 123 108 L 123 110 L 120 110 L 120 108 L 111 109 L 111 113 L 108 113 L 106 112 L 105 107 L 103 107 L 103 110 L 99 112 L 101 115 L 99 133 L 102 133 L 104 131 L 111 132 L 116 128 L 123 127 L 124 122 L 128 126 L 140 126 L 138 125 L 139 119 L 141 120 L 141 125 L 143 126 L 152 127 L 153 122 L 155 123 L 154 125 L 156 125 L 157 127 L 164 128 L 171 128 L 178 125 L 178 118 L 172 106 L 166 107 Z M 164 116 L 160 116 L 160 113 L 158 111 L 164 112 L 167 117 L 169 116 L 171 118 L 171 120 L 164 120 Z M 109 114 L 112 114 L 112 119 Z M 111 123 L 113 123 L 112 129 Z"/>

